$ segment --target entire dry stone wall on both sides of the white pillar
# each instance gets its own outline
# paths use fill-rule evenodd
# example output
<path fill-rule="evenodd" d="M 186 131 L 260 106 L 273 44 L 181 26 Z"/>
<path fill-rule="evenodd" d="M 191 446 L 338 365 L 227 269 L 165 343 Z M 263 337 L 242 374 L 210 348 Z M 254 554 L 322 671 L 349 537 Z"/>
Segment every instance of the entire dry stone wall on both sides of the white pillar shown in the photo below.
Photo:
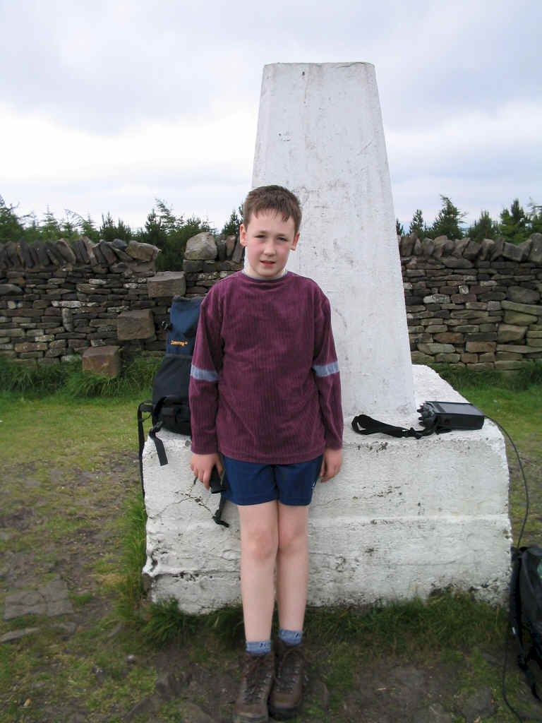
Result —
<path fill-rule="evenodd" d="M 399 241 L 415 364 L 520 369 L 542 358 L 542 234 L 501 240 Z M 206 294 L 243 268 L 235 236 L 190 239 L 182 272 L 155 272 L 159 250 L 131 241 L 5 244 L 0 354 L 53 364 L 88 349 L 163 354 L 173 296 Z M 89 354 L 89 356 L 93 356 Z"/>

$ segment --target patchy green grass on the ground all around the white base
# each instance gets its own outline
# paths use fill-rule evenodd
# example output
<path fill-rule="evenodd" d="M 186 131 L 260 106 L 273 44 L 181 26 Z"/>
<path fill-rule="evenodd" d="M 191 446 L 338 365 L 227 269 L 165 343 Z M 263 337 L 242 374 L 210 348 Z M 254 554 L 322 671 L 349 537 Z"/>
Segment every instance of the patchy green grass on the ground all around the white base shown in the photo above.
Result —
<path fill-rule="evenodd" d="M 532 498 L 524 542 L 537 542 L 542 531 L 536 502 L 542 495 L 542 384 L 534 374 L 521 383 L 499 376 L 492 385 L 480 383 L 482 376 L 463 375 L 454 385 L 514 437 Z M 103 389 L 98 397 L 80 398 L 64 380 L 54 394 L 46 392 L 45 382 L 41 390 L 0 393 L 4 402 L 0 516 L 8 521 L 4 522 L 8 531 L 22 521 L 26 525 L 11 539 L 0 539 L 0 559 L 8 552 L 32 556 L 34 573 L 43 581 L 60 570 L 70 581 L 77 615 L 89 620 L 68 637 L 39 617 L 0 622 L 0 634 L 40 628 L 35 636 L 0 645 L 1 723 L 53 719 L 53 713 L 49 718 L 43 714 L 44 709 L 60 711 L 57 719 L 62 719 L 66 706 L 90 722 L 104 716 L 120 722 L 135 702 L 154 690 L 155 660 L 161 654 L 184 655 L 182 665 L 209 680 L 213 695 L 217 669 L 225 671 L 220 680 L 237 675 L 237 651 L 243 639 L 240 608 L 188 616 L 178 611 L 175 602 L 149 604 L 142 594 L 145 506 L 134 463 L 135 413 L 137 403 L 148 398 L 149 388 L 144 385 L 130 393 L 126 386 L 119 398 L 107 397 Z M 517 536 L 525 495 L 510 451 L 510 512 Z M 119 455 L 131 461 L 131 472 L 116 466 Z M 74 560 L 86 565 L 78 586 L 75 578 L 69 578 Z M 0 606 L 3 599 L 0 587 Z M 103 612 L 97 615 L 96 609 Z M 308 717 L 302 720 L 349 720 L 343 700 L 349 696 L 355 700 L 363 688 L 358 669 L 367 661 L 375 666 L 401 661 L 444 664 L 456 670 L 458 701 L 481 685 L 489 686 L 497 703 L 496 712 L 486 720 L 509 723 L 515 718 L 502 703 L 501 666 L 491 663 L 491 655 L 501 654 L 505 628 L 503 609 L 476 602 L 468 594 L 442 593 L 426 602 L 413 599 L 363 609 L 308 609 L 306 637 L 322 660 L 330 706 L 325 711 L 321 701 L 309 698 Z M 134 667 L 126 663 L 128 654 L 139 660 Z M 525 696 L 522 676 L 515 670 L 507 677 L 507 690 L 517 709 L 528 707 L 530 693 L 527 690 Z M 32 702 L 24 709 L 29 698 Z M 179 712 L 182 704 L 164 703 L 160 718 L 184 720 Z M 205 708 L 205 696 L 202 705 Z"/>

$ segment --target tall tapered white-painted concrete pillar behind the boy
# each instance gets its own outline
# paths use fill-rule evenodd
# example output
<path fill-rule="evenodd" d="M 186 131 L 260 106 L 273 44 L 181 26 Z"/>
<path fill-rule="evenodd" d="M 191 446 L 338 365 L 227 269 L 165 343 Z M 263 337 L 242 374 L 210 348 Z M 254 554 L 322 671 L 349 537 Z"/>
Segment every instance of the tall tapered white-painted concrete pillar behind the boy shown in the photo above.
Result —
<path fill-rule="evenodd" d="M 252 184 L 280 184 L 301 200 L 288 268 L 330 299 L 345 416 L 403 423 L 413 380 L 374 66 L 265 66 Z"/>

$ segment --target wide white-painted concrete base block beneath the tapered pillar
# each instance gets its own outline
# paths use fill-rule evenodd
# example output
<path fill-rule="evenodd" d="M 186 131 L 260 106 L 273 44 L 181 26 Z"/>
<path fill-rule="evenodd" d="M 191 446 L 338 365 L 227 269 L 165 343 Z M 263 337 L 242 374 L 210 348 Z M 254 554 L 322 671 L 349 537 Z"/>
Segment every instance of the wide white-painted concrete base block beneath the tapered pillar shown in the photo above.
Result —
<path fill-rule="evenodd" d="M 413 367 L 417 405 L 465 401 L 429 367 Z M 377 418 L 379 415 L 374 414 Z M 382 419 L 406 424 L 404 419 Z M 310 511 L 309 604 L 425 598 L 473 590 L 504 602 L 509 578 L 508 468 L 504 440 L 487 421 L 472 432 L 421 440 L 356 435 L 345 420 L 340 476 L 314 490 Z M 416 418 L 408 422 L 415 427 Z M 237 508 L 218 506 L 189 469 L 190 440 L 160 432 L 143 456 L 147 564 L 152 599 L 174 596 L 189 613 L 240 602 Z"/>

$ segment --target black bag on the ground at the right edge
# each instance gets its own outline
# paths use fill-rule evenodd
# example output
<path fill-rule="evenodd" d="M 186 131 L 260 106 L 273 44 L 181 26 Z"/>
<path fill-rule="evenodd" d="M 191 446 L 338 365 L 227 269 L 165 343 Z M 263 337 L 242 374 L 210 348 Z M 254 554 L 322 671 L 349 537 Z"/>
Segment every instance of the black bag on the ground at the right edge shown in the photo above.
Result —
<path fill-rule="evenodd" d="M 510 623 L 520 646 L 517 664 L 533 696 L 541 700 L 529 661 L 535 660 L 542 668 L 542 547 L 512 549 Z M 528 651 L 523 641 L 524 628 L 530 636 Z"/>

